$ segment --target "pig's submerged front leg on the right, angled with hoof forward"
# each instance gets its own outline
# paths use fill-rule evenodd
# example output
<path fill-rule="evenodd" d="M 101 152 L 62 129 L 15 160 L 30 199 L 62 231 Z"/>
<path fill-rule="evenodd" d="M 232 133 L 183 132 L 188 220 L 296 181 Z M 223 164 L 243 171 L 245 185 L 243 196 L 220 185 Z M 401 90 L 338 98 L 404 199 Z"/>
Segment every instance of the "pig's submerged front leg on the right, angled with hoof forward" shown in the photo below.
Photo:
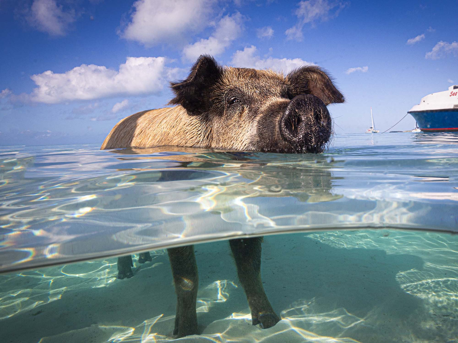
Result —
<path fill-rule="evenodd" d="M 261 237 L 233 239 L 229 241 L 240 283 L 245 289 L 251 310 L 253 325 L 263 329 L 273 327 L 280 318 L 273 311 L 261 280 Z"/>

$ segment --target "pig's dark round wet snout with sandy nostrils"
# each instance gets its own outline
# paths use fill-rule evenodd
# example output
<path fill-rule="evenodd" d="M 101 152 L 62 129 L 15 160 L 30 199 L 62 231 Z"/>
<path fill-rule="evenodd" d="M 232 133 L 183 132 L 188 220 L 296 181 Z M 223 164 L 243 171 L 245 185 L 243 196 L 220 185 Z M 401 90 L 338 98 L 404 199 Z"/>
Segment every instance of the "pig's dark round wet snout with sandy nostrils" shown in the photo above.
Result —
<path fill-rule="evenodd" d="M 319 152 L 331 136 L 326 105 L 311 94 L 295 96 L 279 124 L 282 138 L 297 152 Z"/>

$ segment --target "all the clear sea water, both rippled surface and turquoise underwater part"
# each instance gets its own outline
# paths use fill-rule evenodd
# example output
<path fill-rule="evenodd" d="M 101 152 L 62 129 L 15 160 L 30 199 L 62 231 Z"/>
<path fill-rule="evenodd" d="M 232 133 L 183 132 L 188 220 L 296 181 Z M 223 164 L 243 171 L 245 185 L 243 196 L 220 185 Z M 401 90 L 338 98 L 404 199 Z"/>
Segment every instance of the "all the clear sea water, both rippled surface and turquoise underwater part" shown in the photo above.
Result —
<path fill-rule="evenodd" d="M 458 342 L 458 134 L 347 134 L 322 155 L 98 148 L 0 147 L 2 341 L 169 341 L 163 249 L 214 241 L 196 245 L 202 334 L 182 340 Z M 225 242 L 250 235 L 282 318 L 266 330 Z M 142 250 L 153 262 L 115 279 L 112 256 Z"/>

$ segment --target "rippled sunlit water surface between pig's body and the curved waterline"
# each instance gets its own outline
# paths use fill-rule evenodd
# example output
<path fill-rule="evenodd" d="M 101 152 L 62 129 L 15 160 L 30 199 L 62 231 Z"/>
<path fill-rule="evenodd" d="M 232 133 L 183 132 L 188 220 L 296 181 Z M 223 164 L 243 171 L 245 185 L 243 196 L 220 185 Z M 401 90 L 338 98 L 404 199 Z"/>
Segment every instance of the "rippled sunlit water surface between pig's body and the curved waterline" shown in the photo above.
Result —
<path fill-rule="evenodd" d="M 341 135 L 322 155 L 2 147 L 0 271 L 303 230 L 457 232 L 457 144 L 419 133 Z"/>

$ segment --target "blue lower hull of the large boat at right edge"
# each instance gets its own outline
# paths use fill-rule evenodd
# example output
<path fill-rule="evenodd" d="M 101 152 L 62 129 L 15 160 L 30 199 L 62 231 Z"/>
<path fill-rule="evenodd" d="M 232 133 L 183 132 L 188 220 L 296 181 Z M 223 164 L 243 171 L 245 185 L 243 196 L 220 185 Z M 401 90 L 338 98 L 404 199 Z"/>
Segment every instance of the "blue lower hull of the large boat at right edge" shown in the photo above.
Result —
<path fill-rule="evenodd" d="M 458 109 L 437 111 L 409 111 L 421 131 L 458 131 Z"/>

